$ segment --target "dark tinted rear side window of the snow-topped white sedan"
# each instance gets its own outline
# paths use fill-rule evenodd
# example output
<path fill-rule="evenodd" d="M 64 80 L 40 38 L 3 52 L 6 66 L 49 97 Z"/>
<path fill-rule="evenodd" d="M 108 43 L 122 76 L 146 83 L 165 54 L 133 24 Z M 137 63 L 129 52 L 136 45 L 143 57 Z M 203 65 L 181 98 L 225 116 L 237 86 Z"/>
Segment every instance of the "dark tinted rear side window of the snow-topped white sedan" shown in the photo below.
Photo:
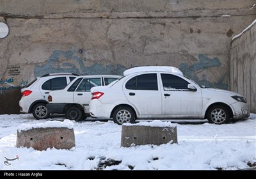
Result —
<path fill-rule="evenodd" d="M 130 79 L 125 88 L 135 90 L 158 90 L 157 74 L 138 75 Z"/>

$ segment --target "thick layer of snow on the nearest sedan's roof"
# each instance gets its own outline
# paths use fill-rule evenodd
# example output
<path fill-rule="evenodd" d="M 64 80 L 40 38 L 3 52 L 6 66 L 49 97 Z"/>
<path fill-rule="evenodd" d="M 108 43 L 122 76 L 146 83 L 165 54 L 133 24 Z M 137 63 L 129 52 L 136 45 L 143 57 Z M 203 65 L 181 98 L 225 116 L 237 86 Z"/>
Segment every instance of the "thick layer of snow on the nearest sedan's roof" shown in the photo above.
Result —
<path fill-rule="evenodd" d="M 130 68 L 128 70 L 124 71 L 124 76 L 129 74 L 134 74 L 138 72 L 171 72 L 183 75 L 183 73 L 179 70 L 179 68 L 173 67 L 173 66 L 139 66 Z"/>

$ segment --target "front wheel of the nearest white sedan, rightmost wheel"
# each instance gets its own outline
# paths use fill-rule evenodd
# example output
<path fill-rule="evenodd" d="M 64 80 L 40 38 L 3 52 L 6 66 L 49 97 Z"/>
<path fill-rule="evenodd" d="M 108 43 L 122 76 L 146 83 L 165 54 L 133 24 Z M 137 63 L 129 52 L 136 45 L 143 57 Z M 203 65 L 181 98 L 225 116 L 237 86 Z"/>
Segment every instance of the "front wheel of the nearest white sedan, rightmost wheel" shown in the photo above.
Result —
<path fill-rule="evenodd" d="M 223 124 L 228 123 L 230 114 L 226 107 L 221 105 L 216 105 L 211 107 L 207 113 L 207 120 L 209 123 Z"/>

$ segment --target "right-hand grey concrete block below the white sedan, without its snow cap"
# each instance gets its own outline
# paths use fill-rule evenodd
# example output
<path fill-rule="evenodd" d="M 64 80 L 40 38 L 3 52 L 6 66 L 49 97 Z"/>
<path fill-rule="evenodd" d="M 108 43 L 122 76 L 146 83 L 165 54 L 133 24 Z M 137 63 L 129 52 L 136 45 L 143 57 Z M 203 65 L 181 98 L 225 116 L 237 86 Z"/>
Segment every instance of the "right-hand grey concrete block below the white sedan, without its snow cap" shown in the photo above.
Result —
<path fill-rule="evenodd" d="M 178 143 L 177 127 L 123 125 L 121 146 Z"/>

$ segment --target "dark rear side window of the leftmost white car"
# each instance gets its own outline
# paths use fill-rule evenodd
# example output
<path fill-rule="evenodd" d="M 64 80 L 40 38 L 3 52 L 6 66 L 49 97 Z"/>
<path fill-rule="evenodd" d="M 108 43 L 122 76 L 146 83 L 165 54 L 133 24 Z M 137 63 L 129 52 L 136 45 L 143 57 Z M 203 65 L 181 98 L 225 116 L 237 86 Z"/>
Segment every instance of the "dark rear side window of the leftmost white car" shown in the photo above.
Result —
<path fill-rule="evenodd" d="M 44 90 L 57 90 L 63 89 L 67 86 L 67 79 L 66 77 L 57 77 L 54 79 L 49 79 L 48 81 L 44 82 L 42 85 L 42 89 Z"/>

